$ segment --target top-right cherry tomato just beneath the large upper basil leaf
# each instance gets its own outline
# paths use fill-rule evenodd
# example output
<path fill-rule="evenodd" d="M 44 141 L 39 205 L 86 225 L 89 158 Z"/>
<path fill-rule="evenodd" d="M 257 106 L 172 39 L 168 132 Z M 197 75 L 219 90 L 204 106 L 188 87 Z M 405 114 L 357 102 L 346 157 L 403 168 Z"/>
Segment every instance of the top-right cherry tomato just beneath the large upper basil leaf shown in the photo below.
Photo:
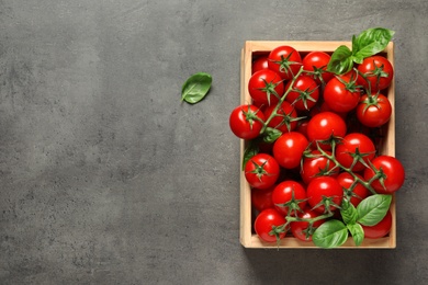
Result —
<path fill-rule="evenodd" d="M 394 77 L 394 69 L 390 60 L 383 56 L 371 56 L 365 58 L 361 65 L 358 66 L 358 71 L 365 76 L 367 80 L 361 76 L 358 83 L 365 89 L 371 86 L 371 93 L 376 93 L 391 86 Z"/>

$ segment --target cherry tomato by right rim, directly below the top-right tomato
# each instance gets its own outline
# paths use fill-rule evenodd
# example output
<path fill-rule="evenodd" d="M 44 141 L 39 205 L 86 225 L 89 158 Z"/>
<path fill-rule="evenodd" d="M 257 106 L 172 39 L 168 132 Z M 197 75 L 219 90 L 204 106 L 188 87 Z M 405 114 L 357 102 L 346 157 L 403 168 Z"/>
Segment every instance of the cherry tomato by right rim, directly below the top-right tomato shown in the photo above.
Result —
<path fill-rule="evenodd" d="M 392 106 L 390 100 L 382 94 L 362 95 L 357 106 L 357 118 L 368 127 L 380 127 L 390 121 Z"/>

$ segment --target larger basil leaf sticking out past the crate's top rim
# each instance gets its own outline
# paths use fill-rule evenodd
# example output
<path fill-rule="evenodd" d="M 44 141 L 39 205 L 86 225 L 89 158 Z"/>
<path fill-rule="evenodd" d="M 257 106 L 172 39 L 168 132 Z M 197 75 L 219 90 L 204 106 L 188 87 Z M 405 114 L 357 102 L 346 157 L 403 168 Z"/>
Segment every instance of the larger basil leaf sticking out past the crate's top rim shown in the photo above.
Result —
<path fill-rule="evenodd" d="M 357 37 L 356 45 L 352 44 L 352 54 L 363 59 L 373 56 L 387 46 L 394 33 L 384 27 L 365 30 Z"/>

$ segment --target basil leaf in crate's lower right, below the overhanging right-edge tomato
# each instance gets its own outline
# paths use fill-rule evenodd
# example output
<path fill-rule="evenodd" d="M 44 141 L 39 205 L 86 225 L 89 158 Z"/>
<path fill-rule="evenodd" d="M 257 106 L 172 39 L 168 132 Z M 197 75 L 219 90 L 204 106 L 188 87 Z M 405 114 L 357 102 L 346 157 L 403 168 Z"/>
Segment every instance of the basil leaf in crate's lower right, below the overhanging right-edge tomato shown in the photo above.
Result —
<path fill-rule="evenodd" d="M 363 226 L 374 226 L 381 221 L 392 202 L 391 195 L 375 194 L 361 201 L 357 206 L 358 219 L 357 221 Z"/>

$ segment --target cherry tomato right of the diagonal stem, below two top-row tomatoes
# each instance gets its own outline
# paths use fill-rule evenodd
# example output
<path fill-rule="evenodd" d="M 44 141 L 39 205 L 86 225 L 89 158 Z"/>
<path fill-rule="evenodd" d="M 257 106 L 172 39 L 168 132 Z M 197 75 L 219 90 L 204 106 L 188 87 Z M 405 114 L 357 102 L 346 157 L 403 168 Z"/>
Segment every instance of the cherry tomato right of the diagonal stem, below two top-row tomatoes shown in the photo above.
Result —
<path fill-rule="evenodd" d="M 289 90 L 292 81 L 289 81 L 285 86 L 285 90 Z M 296 110 L 305 111 L 312 109 L 319 98 L 318 84 L 308 76 L 300 76 L 292 87 L 293 91 L 290 91 L 285 100 L 294 105 Z"/>

